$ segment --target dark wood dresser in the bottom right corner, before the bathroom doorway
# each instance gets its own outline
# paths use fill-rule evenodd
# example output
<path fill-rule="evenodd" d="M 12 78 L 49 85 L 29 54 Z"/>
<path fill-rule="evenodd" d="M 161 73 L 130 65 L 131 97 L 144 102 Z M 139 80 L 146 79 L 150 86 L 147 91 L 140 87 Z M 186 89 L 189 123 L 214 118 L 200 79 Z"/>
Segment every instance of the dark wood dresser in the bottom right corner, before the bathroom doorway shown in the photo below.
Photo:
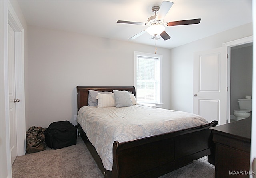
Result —
<path fill-rule="evenodd" d="M 249 177 L 251 119 L 210 129 L 216 144 L 215 178 Z"/>

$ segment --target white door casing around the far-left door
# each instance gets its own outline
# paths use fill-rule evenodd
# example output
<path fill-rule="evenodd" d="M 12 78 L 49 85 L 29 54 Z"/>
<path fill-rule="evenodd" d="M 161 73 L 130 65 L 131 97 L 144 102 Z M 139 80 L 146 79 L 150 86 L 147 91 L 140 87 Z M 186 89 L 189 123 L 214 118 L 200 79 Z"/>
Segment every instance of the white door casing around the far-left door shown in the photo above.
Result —
<path fill-rule="evenodd" d="M 8 24 L 15 32 L 15 80 L 16 96 L 20 99 L 16 105 L 17 126 L 17 153 L 25 154 L 26 127 L 25 127 L 25 87 L 24 87 L 24 28 L 9 1 L 4 1 L 4 93 L 5 93 L 5 120 L 6 120 L 6 156 L 8 177 L 12 177 L 10 153 L 10 123 L 9 123 L 9 84 L 8 84 Z"/>

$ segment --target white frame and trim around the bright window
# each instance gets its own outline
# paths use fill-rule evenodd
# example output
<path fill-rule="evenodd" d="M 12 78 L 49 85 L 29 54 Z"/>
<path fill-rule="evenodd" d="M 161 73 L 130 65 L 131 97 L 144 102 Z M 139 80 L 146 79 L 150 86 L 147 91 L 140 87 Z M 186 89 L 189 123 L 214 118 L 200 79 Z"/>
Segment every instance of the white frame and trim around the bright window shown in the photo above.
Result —
<path fill-rule="evenodd" d="M 143 53 L 143 52 L 138 52 L 138 51 L 134 51 L 134 86 L 137 90 L 137 57 L 141 56 L 141 57 L 148 57 L 148 58 L 156 58 L 160 61 L 160 101 L 158 103 L 150 103 L 151 106 L 155 106 L 155 107 L 162 107 L 162 61 L 163 61 L 163 55 L 159 55 L 159 54 L 151 54 L 151 53 Z M 137 95 L 136 95 L 137 98 Z"/>

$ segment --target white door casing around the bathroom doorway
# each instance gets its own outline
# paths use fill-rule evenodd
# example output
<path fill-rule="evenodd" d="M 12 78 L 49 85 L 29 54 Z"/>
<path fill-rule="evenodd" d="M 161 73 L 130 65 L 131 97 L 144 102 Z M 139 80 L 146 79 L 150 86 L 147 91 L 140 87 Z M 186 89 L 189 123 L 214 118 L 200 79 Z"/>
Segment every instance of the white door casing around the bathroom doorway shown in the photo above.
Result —
<path fill-rule="evenodd" d="M 227 43 L 223 43 L 222 46 L 227 48 L 227 54 L 228 54 L 228 66 L 227 66 L 227 86 L 229 88 L 227 93 L 227 119 L 228 123 L 230 122 L 230 72 L 231 72 L 231 47 L 235 47 L 238 45 L 244 45 L 247 43 L 253 42 L 253 36 L 237 39 L 234 41 L 230 41 Z"/>

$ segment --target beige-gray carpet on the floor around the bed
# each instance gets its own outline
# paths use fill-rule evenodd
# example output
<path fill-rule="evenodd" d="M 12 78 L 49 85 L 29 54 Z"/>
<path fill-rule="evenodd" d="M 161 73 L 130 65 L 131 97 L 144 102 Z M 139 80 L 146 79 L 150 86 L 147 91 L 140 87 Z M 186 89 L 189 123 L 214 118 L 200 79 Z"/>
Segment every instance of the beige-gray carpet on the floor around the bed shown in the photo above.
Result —
<path fill-rule="evenodd" d="M 77 144 L 18 156 L 12 165 L 12 178 L 104 178 L 87 147 Z M 160 178 L 214 178 L 214 166 L 207 157 L 194 161 Z"/>

